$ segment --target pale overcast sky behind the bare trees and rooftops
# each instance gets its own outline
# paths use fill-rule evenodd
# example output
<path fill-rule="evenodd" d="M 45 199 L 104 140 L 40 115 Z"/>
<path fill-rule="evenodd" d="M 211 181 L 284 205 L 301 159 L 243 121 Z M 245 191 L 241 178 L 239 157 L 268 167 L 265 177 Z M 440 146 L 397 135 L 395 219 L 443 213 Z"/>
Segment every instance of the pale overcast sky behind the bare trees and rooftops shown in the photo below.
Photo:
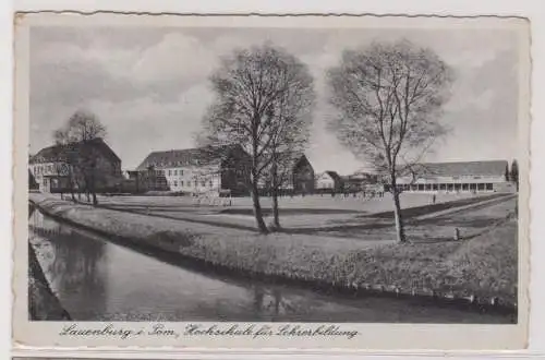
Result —
<path fill-rule="evenodd" d="M 234 47 L 270 40 L 305 62 L 318 104 L 307 156 L 316 171 L 366 168 L 335 134 L 324 71 L 341 51 L 372 40 L 408 38 L 434 49 L 456 71 L 440 119 L 453 131 L 425 160 L 512 159 L 516 152 L 517 37 L 487 29 L 289 29 L 48 27 L 31 33 L 31 153 L 75 110 L 95 112 L 123 169 L 152 151 L 193 146 L 211 100 L 208 75 Z"/>

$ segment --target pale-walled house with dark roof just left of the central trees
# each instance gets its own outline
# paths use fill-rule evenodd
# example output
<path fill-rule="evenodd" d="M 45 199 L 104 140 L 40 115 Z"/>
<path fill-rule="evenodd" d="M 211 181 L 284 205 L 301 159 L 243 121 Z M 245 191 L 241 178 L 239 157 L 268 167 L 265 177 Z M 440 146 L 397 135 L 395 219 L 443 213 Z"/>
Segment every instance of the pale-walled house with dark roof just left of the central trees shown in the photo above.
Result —
<path fill-rule="evenodd" d="M 238 144 L 150 153 L 129 171 L 137 191 L 245 194 L 249 155 Z"/>

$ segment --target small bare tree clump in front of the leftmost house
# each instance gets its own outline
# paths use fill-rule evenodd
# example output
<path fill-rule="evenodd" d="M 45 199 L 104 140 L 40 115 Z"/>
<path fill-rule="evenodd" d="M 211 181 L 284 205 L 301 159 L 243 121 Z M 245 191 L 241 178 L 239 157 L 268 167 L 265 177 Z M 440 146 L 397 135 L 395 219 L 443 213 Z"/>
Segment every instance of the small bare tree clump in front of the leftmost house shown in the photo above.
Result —
<path fill-rule="evenodd" d="M 100 175 L 98 173 L 98 151 L 93 142 L 106 135 L 106 128 L 98 118 L 89 111 L 75 111 L 68 123 L 57 130 L 53 134 L 56 142 L 65 148 L 66 159 L 70 165 L 70 187 L 73 196 L 73 187 L 83 183 L 83 189 L 89 200 L 93 195 L 93 204 L 97 205 L 96 185 Z M 83 180 L 83 181 L 82 181 Z"/>

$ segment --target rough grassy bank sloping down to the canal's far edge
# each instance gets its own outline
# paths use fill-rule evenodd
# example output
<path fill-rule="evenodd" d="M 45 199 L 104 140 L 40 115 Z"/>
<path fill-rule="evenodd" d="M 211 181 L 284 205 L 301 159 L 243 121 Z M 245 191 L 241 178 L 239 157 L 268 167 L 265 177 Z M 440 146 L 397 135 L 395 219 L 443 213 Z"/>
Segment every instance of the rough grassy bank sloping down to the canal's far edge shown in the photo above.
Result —
<path fill-rule="evenodd" d="M 350 291 L 476 297 L 514 308 L 517 221 L 506 218 L 463 242 L 397 244 L 227 229 L 74 205 L 31 194 L 46 214 L 215 267 Z"/>

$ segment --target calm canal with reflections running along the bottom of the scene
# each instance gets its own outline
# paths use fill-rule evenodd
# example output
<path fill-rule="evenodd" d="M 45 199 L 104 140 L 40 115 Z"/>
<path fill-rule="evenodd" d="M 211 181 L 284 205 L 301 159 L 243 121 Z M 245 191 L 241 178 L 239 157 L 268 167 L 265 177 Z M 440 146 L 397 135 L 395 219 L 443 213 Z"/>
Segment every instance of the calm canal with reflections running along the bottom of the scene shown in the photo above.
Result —
<path fill-rule="evenodd" d="M 415 300 L 348 298 L 196 272 L 34 211 L 34 247 L 51 289 L 77 321 L 510 323 Z"/>

